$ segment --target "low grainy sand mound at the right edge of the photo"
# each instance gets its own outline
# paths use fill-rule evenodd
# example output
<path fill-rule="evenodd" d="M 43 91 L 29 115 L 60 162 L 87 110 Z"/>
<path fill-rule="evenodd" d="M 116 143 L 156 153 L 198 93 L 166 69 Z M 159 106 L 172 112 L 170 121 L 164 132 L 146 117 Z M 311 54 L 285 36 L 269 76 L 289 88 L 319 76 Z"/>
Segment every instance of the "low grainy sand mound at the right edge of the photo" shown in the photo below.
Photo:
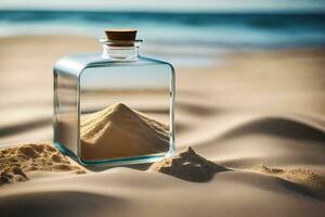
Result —
<path fill-rule="evenodd" d="M 325 199 L 325 177 L 303 168 L 282 169 L 272 168 L 264 165 L 252 167 L 255 171 L 271 175 L 289 182 L 299 184 L 306 190 L 311 191 L 316 196 Z"/>

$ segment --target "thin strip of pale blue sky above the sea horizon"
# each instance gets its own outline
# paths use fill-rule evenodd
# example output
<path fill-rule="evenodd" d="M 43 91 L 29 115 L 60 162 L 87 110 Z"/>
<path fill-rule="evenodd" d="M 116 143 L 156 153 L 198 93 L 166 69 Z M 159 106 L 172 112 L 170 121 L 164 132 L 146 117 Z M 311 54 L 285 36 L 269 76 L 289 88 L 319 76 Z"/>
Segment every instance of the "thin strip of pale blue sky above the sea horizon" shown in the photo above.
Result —
<path fill-rule="evenodd" d="M 0 9 L 325 12 L 325 0 L 0 0 Z"/>

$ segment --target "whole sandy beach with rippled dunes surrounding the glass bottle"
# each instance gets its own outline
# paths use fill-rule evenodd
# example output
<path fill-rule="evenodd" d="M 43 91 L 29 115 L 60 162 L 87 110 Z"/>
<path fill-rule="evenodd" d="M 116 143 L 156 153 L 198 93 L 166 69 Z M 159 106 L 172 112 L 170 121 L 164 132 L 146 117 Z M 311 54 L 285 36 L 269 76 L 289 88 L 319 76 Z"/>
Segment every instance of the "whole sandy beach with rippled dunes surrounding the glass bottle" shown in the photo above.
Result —
<path fill-rule="evenodd" d="M 79 36 L 0 39 L 2 151 L 51 144 L 54 62 L 99 50 Z M 73 169 L 27 170 L 0 186 L 0 216 L 324 216 L 324 48 L 222 59 L 176 68 L 174 157 L 96 170 L 67 158 Z M 166 113 L 159 100 L 140 104 L 157 119 Z"/>

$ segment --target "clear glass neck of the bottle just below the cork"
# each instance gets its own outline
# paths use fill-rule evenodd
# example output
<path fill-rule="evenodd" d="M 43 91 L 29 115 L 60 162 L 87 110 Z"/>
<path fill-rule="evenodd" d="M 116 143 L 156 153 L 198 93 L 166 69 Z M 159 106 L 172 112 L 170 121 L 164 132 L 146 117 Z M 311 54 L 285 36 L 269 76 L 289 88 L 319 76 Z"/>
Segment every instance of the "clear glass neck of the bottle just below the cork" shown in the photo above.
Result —
<path fill-rule="evenodd" d="M 136 61 L 139 58 L 139 46 L 121 47 L 104 43 L 102 56 L 114 61 Z"/>

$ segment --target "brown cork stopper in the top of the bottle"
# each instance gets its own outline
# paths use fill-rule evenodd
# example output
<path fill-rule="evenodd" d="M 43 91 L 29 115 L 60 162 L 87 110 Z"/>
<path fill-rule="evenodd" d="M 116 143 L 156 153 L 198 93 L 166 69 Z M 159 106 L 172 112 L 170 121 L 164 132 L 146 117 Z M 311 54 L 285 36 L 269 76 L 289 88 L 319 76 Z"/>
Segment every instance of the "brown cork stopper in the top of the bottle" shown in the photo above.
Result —
<path fill-rule="evenodd" d="M 105 29 L 106 39 L 109 41 L 134 41 L 136 29 Z"/>

